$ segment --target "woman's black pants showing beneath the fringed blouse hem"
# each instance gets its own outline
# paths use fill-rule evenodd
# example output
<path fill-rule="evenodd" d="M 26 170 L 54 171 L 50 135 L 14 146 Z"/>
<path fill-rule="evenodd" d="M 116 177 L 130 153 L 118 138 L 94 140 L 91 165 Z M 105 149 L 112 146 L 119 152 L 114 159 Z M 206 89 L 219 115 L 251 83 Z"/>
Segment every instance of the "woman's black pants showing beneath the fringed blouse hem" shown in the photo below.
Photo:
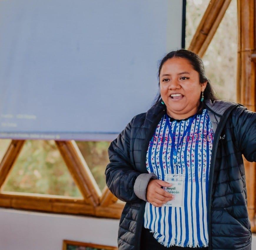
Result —
<path fill-rule="evenodd" d="M 153 233 L 142 227 L 141 232 L 141 242 L 140 242 L 140 249 L 141 250 L 166 250 L 166 249 L 175 249 L 175 250 L 187 250 L 187 249 L 208 249 L 207 247 L 200 247 L 200 248 L 193 248 L 193 247 L 181 247 L 181 246 L 171 246 L 165 247 L 164 245 L 160 244 L 153 236 Z"/>

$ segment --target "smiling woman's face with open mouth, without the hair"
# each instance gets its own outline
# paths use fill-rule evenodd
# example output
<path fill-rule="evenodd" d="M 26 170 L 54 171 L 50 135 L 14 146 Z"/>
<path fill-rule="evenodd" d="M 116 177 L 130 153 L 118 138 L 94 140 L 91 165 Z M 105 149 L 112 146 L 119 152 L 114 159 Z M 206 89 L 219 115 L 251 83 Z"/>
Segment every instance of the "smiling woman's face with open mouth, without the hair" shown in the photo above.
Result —
<path fill-rule="evenodd" d="M 160 94 L 168 115 L 183 119 L 186 115 L 190 116 L 197 112 L 200 94 L 204 91 L 207 81 L 200 84 L 199 73 L 193 69 L 189 60 L 168 59 L 162 65 L 159 81 Z"/>

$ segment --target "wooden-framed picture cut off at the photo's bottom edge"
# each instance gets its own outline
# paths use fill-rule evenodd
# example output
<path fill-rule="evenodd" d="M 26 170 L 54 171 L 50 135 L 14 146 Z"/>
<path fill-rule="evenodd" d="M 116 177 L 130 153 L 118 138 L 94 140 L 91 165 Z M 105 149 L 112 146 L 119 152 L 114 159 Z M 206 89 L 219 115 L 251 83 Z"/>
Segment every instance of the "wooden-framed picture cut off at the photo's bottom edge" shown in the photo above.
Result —
<path fill-rule="evenodd" d="M 86 242 L 63 240 L 62 250 L 118 250 L 116 246 L 105 246 Z"/>

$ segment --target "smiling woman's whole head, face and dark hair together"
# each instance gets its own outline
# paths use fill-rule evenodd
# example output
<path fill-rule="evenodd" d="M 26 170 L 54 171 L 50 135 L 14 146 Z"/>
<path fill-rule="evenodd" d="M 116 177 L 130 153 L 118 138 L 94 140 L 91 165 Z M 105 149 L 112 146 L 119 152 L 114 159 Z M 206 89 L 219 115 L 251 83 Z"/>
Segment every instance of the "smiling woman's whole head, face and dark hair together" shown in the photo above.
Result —
<path fill-rule="evenodd" d="M 167 114 L 184 119 L 197 112 L 202 98 L 216 100 L 202 59 L 188 50 L 168 53 L 159 66 L 160 95 Z M 207 88 L 207 89 L 206 89 Z M 207 91 L 204 95 L 204 91 Z"/>

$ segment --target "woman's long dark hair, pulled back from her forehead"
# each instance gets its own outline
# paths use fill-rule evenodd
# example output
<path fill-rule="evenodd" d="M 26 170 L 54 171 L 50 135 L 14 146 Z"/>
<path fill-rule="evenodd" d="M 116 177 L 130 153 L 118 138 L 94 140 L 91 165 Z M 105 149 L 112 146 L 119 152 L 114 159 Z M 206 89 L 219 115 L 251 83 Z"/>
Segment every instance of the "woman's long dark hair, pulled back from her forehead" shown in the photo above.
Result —
<path fill-rule="evenodd" d="M 217 100 L 217 97 L 215 96 L 215 93 L 212 89 L 212 85 L 210 80 L 205 75 L 205 67 L 203 64 L 202 59 L 197 55 L 196 53 L 189 51 L 189 50 L 176 50 L 169 52 L 167 55 L 164 56 L 162 61 L 160 62 L 159 69 L 158 69 L 158 85 L 160 86 L 160 71 L 162 69 L 163 64 L 171 58 L 185 58 L 189 60 L 190 64 L 192 65 L 193 69 L 199 73 L 199 82 L 204 83 L 207 81 L 206 88 L 204 91 L 204 100 Z M 200 95 L 200 98 L 202 96 L 202 93 Z M 157 104 L 161 100 L 161 95 L 159 93 L 155 104 Z M 155 105 L 154 104 L 154 105 Z M 201 105 L 200 105 L 201 106 Z"/>

